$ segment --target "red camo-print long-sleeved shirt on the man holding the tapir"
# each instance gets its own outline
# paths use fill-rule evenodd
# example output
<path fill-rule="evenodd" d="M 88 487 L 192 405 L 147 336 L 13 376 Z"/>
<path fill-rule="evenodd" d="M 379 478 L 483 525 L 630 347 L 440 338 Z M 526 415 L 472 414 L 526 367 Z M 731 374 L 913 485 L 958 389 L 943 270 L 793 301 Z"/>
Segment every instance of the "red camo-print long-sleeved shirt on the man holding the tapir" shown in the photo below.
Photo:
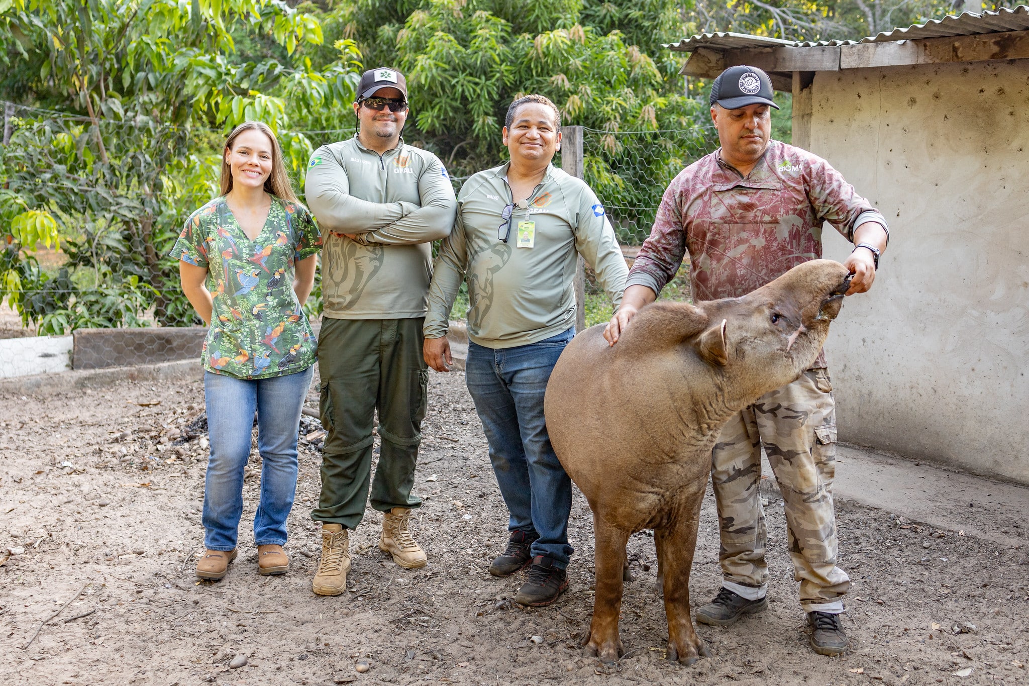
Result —
<path fill-rule="evenodd" d="M 839 172 L 806 150 L 770 141 L 746 178 L 715 151 L 669 184 L 626 286 L 660 293 L 687 259 L 694 301 L 745 295 L 820 258 L 823 222 L 851 240 L 865 212 L 886 225 Z M 813 366 L 825 366 L 822 354 Z"/>

